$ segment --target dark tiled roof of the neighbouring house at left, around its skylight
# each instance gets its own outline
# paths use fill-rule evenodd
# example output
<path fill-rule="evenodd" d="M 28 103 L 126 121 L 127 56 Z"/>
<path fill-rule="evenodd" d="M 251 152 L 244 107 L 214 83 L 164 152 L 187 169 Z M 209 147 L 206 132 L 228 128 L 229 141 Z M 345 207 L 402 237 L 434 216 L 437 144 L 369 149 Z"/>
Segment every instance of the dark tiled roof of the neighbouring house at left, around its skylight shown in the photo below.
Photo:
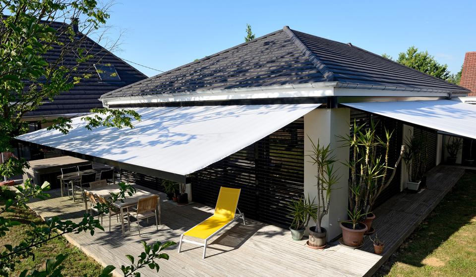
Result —
<path fill-rule="evenodd" d="M 50 23 L 53 28 L 59 29 L 67 26 L 66 23 L 52 22 Z M 65 38 L 67 39 L 66 35 Z M 83 36 L 78 34 L 78 36 Z M 76 75 L 91 74 L 91 78 L 83 79 L 79 84 L 67 91 L 61 92 L 54 97 L 54 101 L 45 100 L 43 105 L 38 106 L 34 111 L 25 114 L 27 117 L 42 117 L 48 115 L 60 115 L 60 114 L 77 114 L 89 112 L 91 108 L 103 107 L 99 97 L 106 93 L 123 86 L 127 86 L 138 81 L 147 78 L 143 73 L 122 61 L 119 57 L 108 51 L 106 48 L 95 43 L 88 37 L 82 37 L 84 39 L 81 42 L 81 47 L 90 49 L 88 54 L 92 54 L 93 57 L 86 62 L 81 63 L 78 67 Z M 47 59 L 55 59 L 60 55 L 60 47 L 55 46 L 52 50 L 46 54 Z M 69 54 L 68 54 L 69 55 Z M 75 64 L 76 57 L 74 54 L 64 57 L 65 62 L 72 61 Z M 94 64 L 111 64 L 115 67 L 120 81 L 102 81 L 99 77 Z"/>

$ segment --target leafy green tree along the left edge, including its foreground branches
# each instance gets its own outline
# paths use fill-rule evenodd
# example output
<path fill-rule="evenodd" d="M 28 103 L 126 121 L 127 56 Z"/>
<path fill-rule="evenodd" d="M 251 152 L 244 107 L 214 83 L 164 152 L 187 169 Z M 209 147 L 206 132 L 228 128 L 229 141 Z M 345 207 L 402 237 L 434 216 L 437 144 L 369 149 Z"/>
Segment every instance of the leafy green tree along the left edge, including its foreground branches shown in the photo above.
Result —
<path fill-rule="evenodd" d="M 45 100 L 54 100 L 59 93 L 67 93 L 74 85 L 88 74 L 80 73 L 79 68 L 90 59 L 100 60 L 92 54 L 92 47 L 87 36 L 100 30 L 109 18 L 109 5 L 100 5 L 96 0 L 0 0 L 0 12 L 7 14 L 0 21 L 0 152 L 11 150 L 11 141 L 15 136 L 27 131 L 22 117 L 35 110 Z M 66 24 L 72 18 L 76 24 Z M 81 31 L 79 31 L 81 28 Z M 52 54 L 51 49 L 60 49 L 59 54 Z M 58 53 L 58 52 L 55 52 Z M 94 114 L 83 117 L 85 128 L 98 126 L 129 127 L 132 119 L 140 116 L 132 110 L 94 109 Z M 70 119 L 59 118 L 51 128 L 67 133 Z M 28 167 L 24 159 L 8 158 L 0 165 L 0 175 L 12 176 L 22 173 Z M 100 212 L 107 212 L 115 201 L 120 201 L 134 192 L 130 185 L 120 183 L 120 192 L 112 193 L 107 203 L 98 204 Z M 12 207 L 25 206 L 33 197 L 46 198 L 49 184 L 30 184 L 16 186 L 18 192 L 8 194 L 5 206 L 0 209 L 0 236 L 18 223 L 2 217 L 2 213 Z M 2 193 L 5 194 L 5 191 Z M 8 276 L 15 265 L 22 259 L 32 256 L 32 249 L 42 247 L 47 241 L 64 233 L 90 232 L 103 230 L 98 220 L 90 214 L 84 214 L 81 222 L 60 221 L 54 217 L 46 222 L 47 228 L 33 226 L 27 232 L 27 238 L 18 245 L 4 245 L 0 253 L 0 276 Z M 137 262 L 130 260 L 129 266 L 121 268 L 124 276 L 140 276 L 138 269 L 149 266 L 159 270 L 157 259 L 168 259 L 163 249 L 175 244 L 167 242 L 153 245 L 144 244 L 144 253 Z M 61 277 L 61 262 L 65 256 L 59 254 L 46 262 L 44 271 L 22 272 L 20 276 Z M 104 269 L 101 277 L 111 276 L 113 266 Z"/>

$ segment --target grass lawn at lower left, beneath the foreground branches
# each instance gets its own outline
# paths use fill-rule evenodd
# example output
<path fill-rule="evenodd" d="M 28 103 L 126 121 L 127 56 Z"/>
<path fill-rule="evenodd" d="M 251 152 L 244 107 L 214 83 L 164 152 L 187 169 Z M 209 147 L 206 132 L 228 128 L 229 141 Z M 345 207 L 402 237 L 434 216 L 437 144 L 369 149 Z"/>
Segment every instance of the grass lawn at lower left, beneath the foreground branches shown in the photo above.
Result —
<path fill-rule="evenodd" d="M 0 196 L 0 205 L 3 205 L 3 203 L 4 197 Z M 19 221 L 21 225 L 14 226 L 11 228 L 11 231 L 7 232 L 6 236 L 0 237 L 2 246 L 5 244 L 17 245 L 25 237 L 25 231 L 31 228 L 29 225 L 31 222 L 37 225 L 43 223 L 42 219 L 29 209 L 15 209 L 15 213 L 5 213 L 3 217 Z M 63 237 L 58 237 L 49 241 L 41 248 L 34 250 L 35 260 L 31 257 L 24 259 L 16 266 L 15 272 L 10 276 L 18 276 L 20 272 L 25 269 L 44 269 L 45 261 L 55 258 L 60 253 L 68 255 L 63 262 L 63 265 L 66 267 L 63 270 L 64 276 L 73 277 L 87 274 L 92 277 L 98 276 L 102 271 L 102 267 L 99 263 L 86 256 L 76 246 L 69 244 Z"/>

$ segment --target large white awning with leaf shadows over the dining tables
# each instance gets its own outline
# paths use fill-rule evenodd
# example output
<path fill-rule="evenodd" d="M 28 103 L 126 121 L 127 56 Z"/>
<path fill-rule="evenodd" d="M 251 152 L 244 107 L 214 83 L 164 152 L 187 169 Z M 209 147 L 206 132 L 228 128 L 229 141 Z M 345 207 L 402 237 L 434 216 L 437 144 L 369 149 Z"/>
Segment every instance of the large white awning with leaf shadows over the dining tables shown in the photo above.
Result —
<path fill-rule="evenodd" d="M 80 118 L 74 118 L 73 129 L 67 135 L 42 129 L 17 139 L 157 170 L 179 181 L 283 128 L 319 105 L 136 108 L 142 118 L 133 122 L 133 129 L 99 127 L 89 131 Z"/>

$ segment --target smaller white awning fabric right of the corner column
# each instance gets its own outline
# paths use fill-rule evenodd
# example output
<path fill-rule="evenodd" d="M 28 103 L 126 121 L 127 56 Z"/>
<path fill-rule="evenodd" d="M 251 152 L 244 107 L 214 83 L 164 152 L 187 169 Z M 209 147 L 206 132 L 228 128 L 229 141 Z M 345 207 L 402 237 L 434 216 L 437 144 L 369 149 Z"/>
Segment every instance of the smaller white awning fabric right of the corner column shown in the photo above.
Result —
<path fill-rule="evenodd" d="M 343 103 L 351 108 L 476 139 L 476 105 L 453 100 Z"/>

